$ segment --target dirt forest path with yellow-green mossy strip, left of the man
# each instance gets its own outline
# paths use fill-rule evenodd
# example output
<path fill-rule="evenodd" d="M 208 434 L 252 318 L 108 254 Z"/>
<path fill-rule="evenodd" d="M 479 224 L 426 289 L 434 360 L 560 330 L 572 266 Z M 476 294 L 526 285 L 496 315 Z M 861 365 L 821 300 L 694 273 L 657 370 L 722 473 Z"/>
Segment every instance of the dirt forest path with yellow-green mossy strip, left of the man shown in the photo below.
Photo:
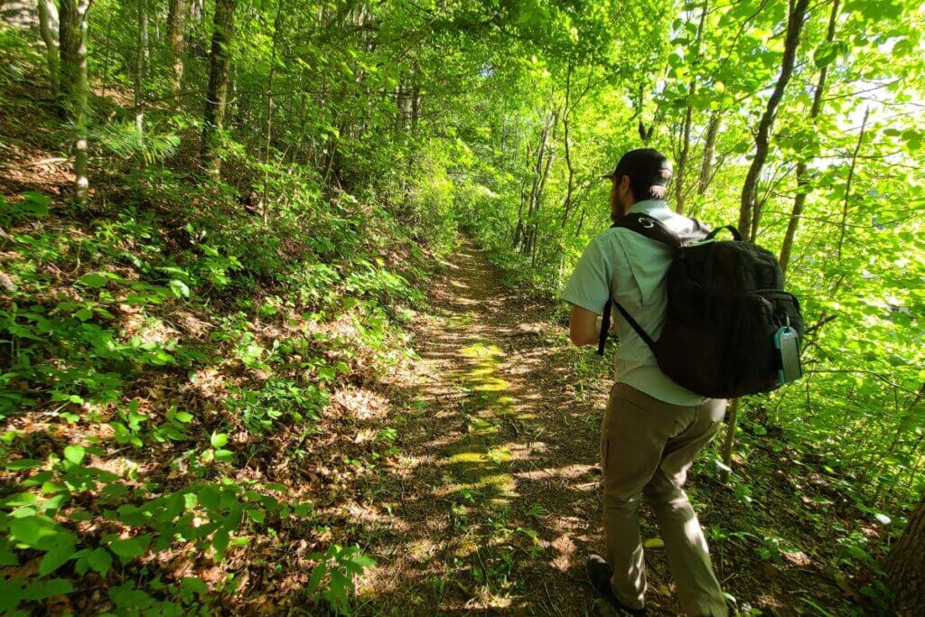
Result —
<path fill-rule="evenodd" d="M 451 261 L 416 328 L 404 470 L 376 488 L 398 507 L 369 547 L 378 574 L 361 612 L 594 614 L 585 560 L 602 545 L 609 384 L 591 370 L 586 389 L 573 383 L 581 357 L 548 307 L 503 287 L 484 253 L 464 244 Z"/>

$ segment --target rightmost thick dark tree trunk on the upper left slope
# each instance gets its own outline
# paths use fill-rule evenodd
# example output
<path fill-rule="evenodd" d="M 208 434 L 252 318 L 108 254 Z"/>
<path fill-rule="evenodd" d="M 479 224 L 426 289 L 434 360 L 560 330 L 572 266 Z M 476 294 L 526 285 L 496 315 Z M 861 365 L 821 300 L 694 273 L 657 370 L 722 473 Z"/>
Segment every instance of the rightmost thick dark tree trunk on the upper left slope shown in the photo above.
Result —
<path fill-rule="evenodd" d="M 209 53 L 209 86 L 203 115 L 202 164 L 215 176 L 221 172 L 221 157 L 216 155 L 219 134 L 225 125 L 228 103 L 228 67 L 234 35 L 234 10 L 237 0 L 216 0 L 213 18 L 212 49 Z"/>

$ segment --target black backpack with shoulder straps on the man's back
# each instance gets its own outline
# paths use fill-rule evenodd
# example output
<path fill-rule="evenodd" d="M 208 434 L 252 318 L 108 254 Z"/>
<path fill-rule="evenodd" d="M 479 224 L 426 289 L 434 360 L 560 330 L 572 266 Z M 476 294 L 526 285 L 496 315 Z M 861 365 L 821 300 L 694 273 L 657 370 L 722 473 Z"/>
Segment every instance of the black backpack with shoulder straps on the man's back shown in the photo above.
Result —
<path fill-rule="evenodd" d="M 734 227 L 708 232 L 694 222 L 695 231 L 684 237 L 647 215 L 623 216 L 613 224 L 674 249 L 668 312 L 659 340 L 652 340 L 623 306 L 609 300 L 598 353 L 604 353 L 612 304 L 646 341 L 662 372 L 692 392 L 732 399 L 780 387 L 774 334 L 789 326 L 803 340 L 800 304 L 783 290 L 781 266 L 771 252 L 742 241 Z M 722 229 L 732 231 L 735 240 L 714 240 Z"/>

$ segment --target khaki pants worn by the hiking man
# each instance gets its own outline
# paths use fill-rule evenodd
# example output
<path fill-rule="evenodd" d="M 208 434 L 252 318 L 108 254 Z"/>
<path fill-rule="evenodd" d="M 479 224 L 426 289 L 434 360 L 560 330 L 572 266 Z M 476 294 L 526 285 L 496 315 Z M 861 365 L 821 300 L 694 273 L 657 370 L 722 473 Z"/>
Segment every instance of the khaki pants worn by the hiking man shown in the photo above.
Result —
<path fill-rule="evenodd" d="M 692 617 L 727 615 L 707 540 L 682 486 L 694 457 L 716 434 L 726 401 L 672 405 L 617 383 L 600 431 L 604 530 L 611 586 L 632 609 L 643 608 L 646 569 L 639 539 L 639 496 L 645 493 L 659 523 L 677 584 Z"/>

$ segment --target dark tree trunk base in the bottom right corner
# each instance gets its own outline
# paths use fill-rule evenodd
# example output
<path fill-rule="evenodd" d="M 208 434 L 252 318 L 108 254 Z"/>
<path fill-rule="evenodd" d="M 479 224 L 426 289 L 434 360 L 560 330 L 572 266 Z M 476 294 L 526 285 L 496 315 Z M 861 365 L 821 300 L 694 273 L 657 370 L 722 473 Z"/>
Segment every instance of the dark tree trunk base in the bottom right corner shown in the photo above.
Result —
<path fill-rule="evenodd" d="M 925 494 L 890 552 L 884 570 L 896 594 L 893 607 L 896 614 L 920 615 L 925 607 Z"/>

